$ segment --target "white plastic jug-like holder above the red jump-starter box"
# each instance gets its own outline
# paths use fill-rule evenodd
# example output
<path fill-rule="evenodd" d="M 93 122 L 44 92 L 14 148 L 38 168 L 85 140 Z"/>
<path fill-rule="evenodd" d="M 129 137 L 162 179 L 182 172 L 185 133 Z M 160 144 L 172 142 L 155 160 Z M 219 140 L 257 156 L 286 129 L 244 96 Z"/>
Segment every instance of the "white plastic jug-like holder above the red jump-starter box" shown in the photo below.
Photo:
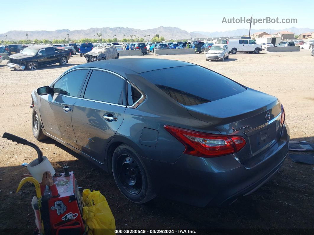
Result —
<path fill-rule="evenodd" d="M 46 156 L 43 156 L 43 161 L 38 164 L 38 158 L 31 161 L 30 164 L 28 164 L 27 169 L 29 170 L 30 174 L 38 181 L 38 183 L 41 183 L 42 181 L 42 175 L 45 171 L 50 171 L 51 175 L 53 176 L 56 171 L 52 167 L 51 163 L 49 162 L 48 158 Z"/>

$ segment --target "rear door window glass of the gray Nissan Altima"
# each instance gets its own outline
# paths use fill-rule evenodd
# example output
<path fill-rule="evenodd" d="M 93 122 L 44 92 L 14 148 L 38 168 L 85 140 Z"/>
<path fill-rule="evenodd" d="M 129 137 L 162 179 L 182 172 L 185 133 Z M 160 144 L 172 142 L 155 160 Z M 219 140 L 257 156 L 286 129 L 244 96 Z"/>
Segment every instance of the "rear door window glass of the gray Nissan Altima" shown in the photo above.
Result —
<path fill-rule="evenodd" d="M 123 104 L 125 80 L 108 72 L 94 70 L 90 75 L 84 98 Z"/>

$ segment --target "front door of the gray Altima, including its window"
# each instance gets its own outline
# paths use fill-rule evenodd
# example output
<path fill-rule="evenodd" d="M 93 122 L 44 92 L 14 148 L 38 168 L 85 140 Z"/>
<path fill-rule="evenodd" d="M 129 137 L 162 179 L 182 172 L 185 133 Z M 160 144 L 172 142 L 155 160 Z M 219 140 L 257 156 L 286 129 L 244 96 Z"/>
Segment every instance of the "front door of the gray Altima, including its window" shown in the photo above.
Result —
<path fill-rule="evenodd" d="M 72 127 L 73 105 L 80 96 L 89 69 L 66 73 L 53 84 L 53 94 L 41 96 L 40 115 L 45 131 L 77 148 Z"/>

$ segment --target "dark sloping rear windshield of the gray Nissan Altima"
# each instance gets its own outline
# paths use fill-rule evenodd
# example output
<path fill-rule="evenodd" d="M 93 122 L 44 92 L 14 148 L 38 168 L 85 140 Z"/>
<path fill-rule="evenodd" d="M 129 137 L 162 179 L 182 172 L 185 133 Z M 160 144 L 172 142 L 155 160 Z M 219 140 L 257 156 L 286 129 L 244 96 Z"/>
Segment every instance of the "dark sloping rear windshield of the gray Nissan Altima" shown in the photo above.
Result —
<path fill-rule="evenodd" d="M 141 75 L 183 105 L 203 104 L 246 90 L 229 78 L 200 66 L 159 69 Z"/>

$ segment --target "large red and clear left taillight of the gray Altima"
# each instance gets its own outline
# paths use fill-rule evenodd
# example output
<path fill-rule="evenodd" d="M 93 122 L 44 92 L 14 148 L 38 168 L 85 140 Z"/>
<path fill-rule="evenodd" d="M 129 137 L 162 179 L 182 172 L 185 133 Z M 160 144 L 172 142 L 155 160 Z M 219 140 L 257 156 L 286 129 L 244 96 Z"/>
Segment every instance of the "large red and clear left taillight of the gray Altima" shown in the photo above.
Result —
<path fill-rule="evenodd" d="M 219 157 L 239 152 L 246 145 L 241 136 L 210 134 L 167 125 L 164 128 L 185 146 L 184 153 L 197 157 Z"/>

